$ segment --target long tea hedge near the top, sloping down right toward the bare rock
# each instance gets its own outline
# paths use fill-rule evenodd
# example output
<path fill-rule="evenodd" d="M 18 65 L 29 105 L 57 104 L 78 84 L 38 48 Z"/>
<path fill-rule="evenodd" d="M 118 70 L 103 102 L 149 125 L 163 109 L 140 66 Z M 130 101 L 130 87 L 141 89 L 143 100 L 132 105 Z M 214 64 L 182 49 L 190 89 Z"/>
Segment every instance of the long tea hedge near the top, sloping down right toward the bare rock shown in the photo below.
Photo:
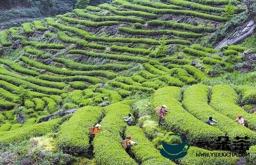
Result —
<path fill-rule="evenodd" d="M 123 8 L 127 8 L 127 9 L 139 10 L 139 11 L 144 11 L 144 12 L 154 13 L 154 14 L 189 15 L 189 16 L 196 16 L 199 18 L 215 20 L 215 21 L 227 20 L 226 18 L 221 17 L 221 16 L 205 14 L 205 13 L 200 13 L 200 12 L 196 12 L 196 11 L 176 10 L 176 9 L 157 9 L 157 8 L 152 8 L 152 7 L 147 7 L 147 6 L 131 4 L 129 2 L 122 1 L 122 0 L 116 0 L 116 1 L 112 2 L 112 4 L 121 5 Z"/>

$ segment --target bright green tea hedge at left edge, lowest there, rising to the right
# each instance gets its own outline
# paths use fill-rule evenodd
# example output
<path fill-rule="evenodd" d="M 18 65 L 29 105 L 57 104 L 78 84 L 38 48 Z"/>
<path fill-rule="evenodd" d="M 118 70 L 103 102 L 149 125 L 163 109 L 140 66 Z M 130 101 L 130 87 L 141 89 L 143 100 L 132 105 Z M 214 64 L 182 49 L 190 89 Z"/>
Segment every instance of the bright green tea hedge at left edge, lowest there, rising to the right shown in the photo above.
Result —
<path fill-rule="evenodd" d="M 60 123 L 61 119 L 53 119 L 48 122 L 32 124 L 9 131 L 0 137 L 0 146 L 8 146 L 10 144 L 16 144 L 28 140 L 34 136 L 44 135 L 54 131 Z"/>

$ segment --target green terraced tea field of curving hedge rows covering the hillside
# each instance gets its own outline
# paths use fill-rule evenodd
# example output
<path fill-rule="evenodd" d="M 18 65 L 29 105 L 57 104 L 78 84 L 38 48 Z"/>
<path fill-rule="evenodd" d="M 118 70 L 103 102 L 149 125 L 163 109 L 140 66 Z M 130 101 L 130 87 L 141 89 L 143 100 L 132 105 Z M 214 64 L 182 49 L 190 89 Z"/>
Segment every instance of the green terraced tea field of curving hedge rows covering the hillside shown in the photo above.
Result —
<path fill-rule="evenodd" d="M 197 143 L 226 134 L 250 137 L 245 160 L 253 164 L 256 116 L 245 107 L 255 107 L 255 71 L 248 74 L 251 84 L 228 79 L 209 86 L 237 73 L 234 64 L 249 48 L 199 44 L 228 20 L 222 14 L 228 3 L 116 0 L 1 31 L 0 146 L 50 136 L 52 152 L 81 164 L 236 164 L 241 157 L 196 157 L 224 152 Z M 159 127 L 155 108 L 163 104 L 170 113 Z M 66 109 L 78 110 L 39 123 Z M 134 126 L 122 119 L 129 113 Z M 246 127 L 234 121 L 238 114 Z M 218 123 L 206 124 L 209 116 Z M 88 127 L 97 123 L 103 130 L 93 138 Z M 159 153 L 168 131 L 186 137 L 185 157 Z M 119 143 L 126 135 L 138 143 L 131 152 Z"/>

